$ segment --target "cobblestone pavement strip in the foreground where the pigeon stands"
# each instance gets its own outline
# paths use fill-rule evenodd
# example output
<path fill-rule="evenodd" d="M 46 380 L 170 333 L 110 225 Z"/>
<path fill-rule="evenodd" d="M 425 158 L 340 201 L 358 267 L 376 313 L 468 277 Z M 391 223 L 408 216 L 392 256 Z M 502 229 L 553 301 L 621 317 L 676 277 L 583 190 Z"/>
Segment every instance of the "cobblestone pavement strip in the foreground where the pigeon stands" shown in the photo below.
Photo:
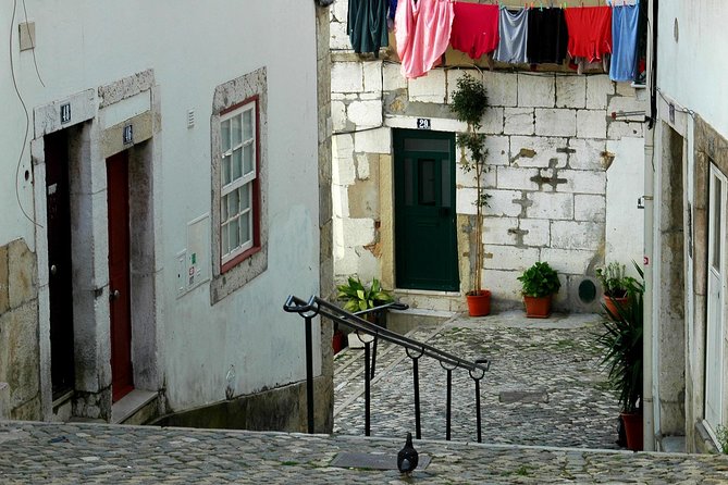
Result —
<path fill-rule="evenodd" d="M 341 452 L 395 456 L 403 440 L 107 424 L 0 423 L 0 483 L 15 484 L 720 484 L 728 457 L 415 442 L 432 462 L 332 467 Z"/>

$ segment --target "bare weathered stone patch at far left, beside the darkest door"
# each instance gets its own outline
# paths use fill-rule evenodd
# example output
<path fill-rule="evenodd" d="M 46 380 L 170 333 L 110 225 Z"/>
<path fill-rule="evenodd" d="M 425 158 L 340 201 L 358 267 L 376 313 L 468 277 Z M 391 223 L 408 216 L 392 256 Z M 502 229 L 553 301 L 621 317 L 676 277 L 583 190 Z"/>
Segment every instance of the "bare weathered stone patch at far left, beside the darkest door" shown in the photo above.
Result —
<path fill-rule="evenodd" d="M 0 247 L 0 419 L 41 419 L 36 274 L 24 240 Z"/>

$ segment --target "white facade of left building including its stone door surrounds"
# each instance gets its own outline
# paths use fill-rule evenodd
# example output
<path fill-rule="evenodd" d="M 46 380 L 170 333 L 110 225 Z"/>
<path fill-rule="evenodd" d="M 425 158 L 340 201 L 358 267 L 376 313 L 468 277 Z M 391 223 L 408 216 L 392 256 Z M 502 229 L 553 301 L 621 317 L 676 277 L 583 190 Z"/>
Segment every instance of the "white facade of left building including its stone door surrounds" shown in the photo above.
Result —
<path fill-rule="evenodd" d="M 133 265 L 151 264 L 133 269 L 144 273 L 146 285 L 134 300 L 145 308 L 134 315 L 134 325 L 140 325 L 133 336 L 135 387 L 161 393 L 168 410 L 182 410 L 224 400 L 227 387 L 240 396 L 299 383 L 305 378 L 303 319 L 284 313 L 282 306 L 289 294 L 320 293 L 322 132 L 314 2 L 133 0 L 101 5 L 25 0 L 24 7 L 35 26 L 35 49 L 21 51 L 23 5 L 0 5 L 0 17 L 8 20 L 2 35 L 13 40 L 10 53 L 7 48 L 0 52 L 0 246 L 21 238 L 36 251 L 41 412 L 33 419 L 59 418 L 50 393 L 42 141 L 45 134 L 69 126 L 83 126 L 78 141 L 87 151 L 79 162 L 83 173 L 72 173 L 72 178 L 90 177 L 78 182 L 73 197 L 82 207 L 72 211 L 81 217 L 73 224 L 75 323 L 85 328 L 75 338 L 77 389 L 98 395 L 110 386 L 103 158 L 116 141 L 104 137 L 132 121 L 144 125 L 139 133 L 145 139 L 132 152 L 144 160 L 150 196 L 145 227 L 136 232 L 139 221 L 132 210 L 133 235 L 139 239 L 132 250 L 135 244 L 146 247 L 144 257 L 132 259 Z M 267 90 L 267 142 L 260 147 L 268 172 L 262 194 L 267 264 L 215 302 L 210 288 L 217 264 L 210 223 L 213 96 L 217 87 L 261 69 Z M 72 120 L 61 124 L 58 110 L 66 102 Z M 201 223 L 190 226 L 195 221 Z M 178 274 L 188 266 L 180 265 L 178 254 L 193 246 L 203 256 L 198 262 L 201 284 L 180 291 Z M 97 298 L 90 296 L 94 291 Z M 151 301 L 141 303 L 145 298 Z M 321 348 L 314 332 L 314 349 Z M 319 375 L 322 357 L 314 355 Z M 74 403 L 74 412 L 109 419 L 103 408 L 110 406 Z"/>

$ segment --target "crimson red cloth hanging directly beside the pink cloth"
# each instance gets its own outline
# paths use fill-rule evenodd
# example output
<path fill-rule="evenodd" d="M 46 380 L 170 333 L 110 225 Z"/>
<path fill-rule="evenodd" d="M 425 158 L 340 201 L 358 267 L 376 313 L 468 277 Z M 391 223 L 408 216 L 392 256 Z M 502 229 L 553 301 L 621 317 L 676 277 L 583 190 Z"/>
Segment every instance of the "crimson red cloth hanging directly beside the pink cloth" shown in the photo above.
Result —
<path fill-rule="evenodd" d="M 498 47 L 498 5 L 455 2 L 451 43 L 479 59 Z"/>

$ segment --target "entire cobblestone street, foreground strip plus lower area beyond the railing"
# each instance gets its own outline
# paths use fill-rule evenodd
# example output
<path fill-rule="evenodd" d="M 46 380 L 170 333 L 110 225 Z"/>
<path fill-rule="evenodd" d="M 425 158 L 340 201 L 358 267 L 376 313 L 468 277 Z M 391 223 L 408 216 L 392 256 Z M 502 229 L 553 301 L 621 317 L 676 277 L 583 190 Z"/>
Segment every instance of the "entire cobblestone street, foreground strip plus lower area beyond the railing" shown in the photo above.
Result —
<path fill-rule="evenodd" d="M 331 436 L 3 422 L 0 483 L 728 483 L 726 456 L 608 449 L 616 448 L 618 408 L 599 366 L 597 322 L 596 315 L 527 321 L 514 312 L 411 332 L 461 357 L 492 361 L 482 385 L 484 443 L 477 444 L 472 381 L 454 372 L 453 442 L 445 442 L 445 372 L 423 360 L 424 439 L 415 446 L 431 462 L 412 478 L 392 467 L 414 430 L 411 363 L 382 345 L 372 437 L 363 437 L 362 351 L 349 349 L 335 360 Z M 338 467 L 346 453 L 384 457 L 390 465 Z"/>

